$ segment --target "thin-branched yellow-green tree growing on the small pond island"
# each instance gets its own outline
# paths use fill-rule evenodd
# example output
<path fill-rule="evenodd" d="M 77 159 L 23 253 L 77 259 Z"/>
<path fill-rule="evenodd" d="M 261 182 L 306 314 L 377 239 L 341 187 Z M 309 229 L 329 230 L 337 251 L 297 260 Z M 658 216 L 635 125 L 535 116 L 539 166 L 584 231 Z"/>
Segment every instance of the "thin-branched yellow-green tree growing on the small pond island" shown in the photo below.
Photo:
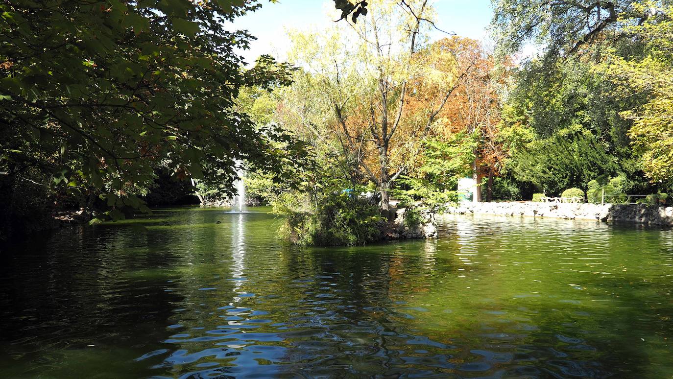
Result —
<path fill-rule="evenodd" d="M 409 169 L 472 66 L 459 50 L 420 53 L 434 25 L 427 0 L 371 1 L 367 10 L 357 24 L 292 33 L 290 59 L 308 73 L 304 96 L 322 104 L 313 127 L 332 136 L 354 177 L 376 184 L 388 209 L 392 182 Z M 441 94 L 424 98 L 420 110 L 409 106 L 418 81 L 433 81 Z"/>

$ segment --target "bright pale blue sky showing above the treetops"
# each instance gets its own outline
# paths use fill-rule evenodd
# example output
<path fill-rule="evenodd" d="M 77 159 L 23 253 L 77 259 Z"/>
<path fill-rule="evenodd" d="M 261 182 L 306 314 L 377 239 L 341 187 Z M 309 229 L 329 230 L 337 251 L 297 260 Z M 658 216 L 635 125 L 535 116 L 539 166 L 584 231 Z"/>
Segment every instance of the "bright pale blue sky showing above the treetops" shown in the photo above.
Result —
<path fill-rule="evenodd" d="M 254 13 L 236 19 L 233 28 L 248 30 L 258 40 L 252 41 L 250 50 L 242 55 L 248 64 L 262 54 L 270 54 L 283 59 L 290 47 L 285 30 L 314 29 L 320 23 L 333 22 L 326 11 L 334 9 L 332 0 L 279 0 L 278 3 L 262 1 L 262 8 Z M 491 0 L 435 0 L 437 12 L 435 25 L 441 30 L 483 40 L 487 38 L 487 26 L 491 22 L 493 10 Z M 433 39 L 446 36 L 435 31 Z"/>

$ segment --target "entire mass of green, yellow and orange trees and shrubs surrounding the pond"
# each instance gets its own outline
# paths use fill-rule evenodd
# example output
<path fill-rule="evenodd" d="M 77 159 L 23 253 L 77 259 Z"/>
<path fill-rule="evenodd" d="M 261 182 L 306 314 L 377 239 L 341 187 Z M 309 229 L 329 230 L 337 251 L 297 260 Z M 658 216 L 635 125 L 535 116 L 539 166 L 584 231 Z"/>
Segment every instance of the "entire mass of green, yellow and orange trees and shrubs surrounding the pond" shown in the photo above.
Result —
<path fill-rule="evenodd" d="M 495 0 L 494 49 L 432 40 L 427 0 L 334 5 L 246 67 L 223 25 L 256 1 L 0 4 L 0 238 L 230 197 L 237 168 L 302 244 L 374 240 L 379 201 L 439 206 L 465 176 L 485 201 L 668 199 L 670 1 Z"/>

